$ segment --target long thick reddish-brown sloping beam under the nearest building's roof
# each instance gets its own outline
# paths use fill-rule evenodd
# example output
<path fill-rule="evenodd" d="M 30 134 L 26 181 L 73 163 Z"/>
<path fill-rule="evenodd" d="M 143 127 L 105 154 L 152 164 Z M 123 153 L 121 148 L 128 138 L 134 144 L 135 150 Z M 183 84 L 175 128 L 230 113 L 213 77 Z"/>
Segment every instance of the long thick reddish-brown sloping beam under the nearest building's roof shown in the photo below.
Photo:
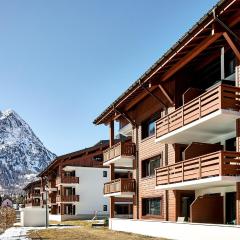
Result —
<path fill-rule="evenodd" d="M 184 67 L 187 63 L 189 63 L 193 58 L 199 55 L 203 50 L 205 50 L 208 46 L 214 43 L 217 39 L 222 36 L 223 33 L 215 33 L 213 36 L 209 36 L 205 40 L 203 40 L 197 47 L 195 47 L 190 53 L 188 53 L 185 57 L 183 57 L 180 61 L 178 61 L 169 71 L 167 71 L 162 77 L 162 81 L 166 81 L 173 74 L 179 71 L 182 67 Z"/>

